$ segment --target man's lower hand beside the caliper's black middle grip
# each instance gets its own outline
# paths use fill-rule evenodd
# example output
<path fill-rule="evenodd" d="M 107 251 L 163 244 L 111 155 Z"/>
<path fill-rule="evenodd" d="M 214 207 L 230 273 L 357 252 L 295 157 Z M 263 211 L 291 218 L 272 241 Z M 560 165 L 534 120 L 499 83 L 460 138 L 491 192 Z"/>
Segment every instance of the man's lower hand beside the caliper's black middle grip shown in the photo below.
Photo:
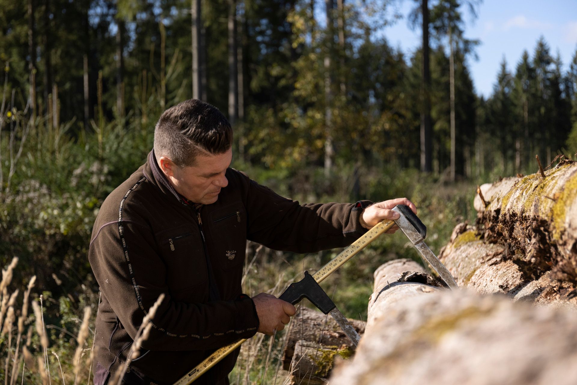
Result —
<path fill-rule="evenodd" d="M 286 301 L 279 300 L 267 293 L 260 293 L 252 297 L 258 316 L 258 332 L 273 335 L 284 329 L 290 322 L 290 317 L 297 312 L 297 308 Z"/>

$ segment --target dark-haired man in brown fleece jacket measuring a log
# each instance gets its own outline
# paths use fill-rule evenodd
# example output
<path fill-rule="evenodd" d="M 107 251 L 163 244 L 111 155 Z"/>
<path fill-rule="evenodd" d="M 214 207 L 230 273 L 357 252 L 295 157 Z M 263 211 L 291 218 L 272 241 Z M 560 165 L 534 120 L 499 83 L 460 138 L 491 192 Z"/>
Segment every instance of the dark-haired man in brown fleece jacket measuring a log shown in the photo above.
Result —
<path fill-rule="evenodd" d="M 246 240 L 317 252 L 349 245 L 381 220 L 398 218 L 388 210 L 396 204 L 416 210 L 404 198 L 299 205 L 231 169 L 232 139 L 215 107 L 194 99 L 171 107 L 156 124 L 147 162 L 102 204 L 89 248 L 102 292 L 95 385 L 126 361 L 160 294 L 164 300 L 125 383 L 174 383 L 219 347 L 282 330 L 293 305 L 241 293 Z M 237 356 L 196 383 L 228 384 Z"/>

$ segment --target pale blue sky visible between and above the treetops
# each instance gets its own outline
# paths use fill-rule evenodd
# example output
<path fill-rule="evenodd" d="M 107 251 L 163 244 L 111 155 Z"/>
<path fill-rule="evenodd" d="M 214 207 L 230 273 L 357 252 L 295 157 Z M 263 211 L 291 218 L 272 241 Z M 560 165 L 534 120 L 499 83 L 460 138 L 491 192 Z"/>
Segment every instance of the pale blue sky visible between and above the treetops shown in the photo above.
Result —
<path fill-rule="evenodd" d="M 421 46 L 421 33 L 411 31 L 407 25 L 406 15 L 414 4 L 412 0 L 400 2 L 398 7 L 404 18 L 383 30 L 389 43 L 405 53 Z M 564 70 L 577 50 L 577 0 L 485 0 L 479 6 L 477 20 L 471 21 L 467 13 L 464 20 L 465 36 L 481 40 L 477 47 L 479 61 L 469 59 L 479 95 L 492 93 L 503 57 L 514 72 L 523 50 L 533 56 L 541 35 L 549 43 L 553 56 L 559 51 Z"/>

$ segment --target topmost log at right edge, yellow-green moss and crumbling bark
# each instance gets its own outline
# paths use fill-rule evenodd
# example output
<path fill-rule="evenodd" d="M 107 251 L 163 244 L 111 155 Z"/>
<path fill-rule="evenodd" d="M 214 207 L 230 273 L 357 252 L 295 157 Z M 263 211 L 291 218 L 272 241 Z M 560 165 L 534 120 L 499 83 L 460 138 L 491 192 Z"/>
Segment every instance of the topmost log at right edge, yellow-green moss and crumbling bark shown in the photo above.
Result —
<path fill-rule="evenodd" d="M 482 195 L 482 197 L 481 197 Z M 557 281 L 577 282 L 577 162 L 504 178 L 475 196 L 478 231 L 485 241 L 507 245 L 507 259 L 523 278 L 550 271 Z"/>

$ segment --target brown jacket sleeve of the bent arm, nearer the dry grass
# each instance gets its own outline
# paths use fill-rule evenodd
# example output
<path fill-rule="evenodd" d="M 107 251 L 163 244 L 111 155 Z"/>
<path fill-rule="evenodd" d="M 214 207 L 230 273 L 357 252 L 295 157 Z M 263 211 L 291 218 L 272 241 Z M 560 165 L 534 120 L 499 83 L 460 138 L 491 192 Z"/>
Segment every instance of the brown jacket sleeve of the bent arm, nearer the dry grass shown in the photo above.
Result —
<path fill-rule="evenodd" d="M 233 301 L 174 301 L 153 239 L 148 226 L 115 223 L 100 229 L 89 248 L 100 290 L 133 340 L 145 314 L 162 293 L 165 297 L 152 319 L 144 349 L 217 349 L 256 333 L 254 302 L 243 294 Z"/>

